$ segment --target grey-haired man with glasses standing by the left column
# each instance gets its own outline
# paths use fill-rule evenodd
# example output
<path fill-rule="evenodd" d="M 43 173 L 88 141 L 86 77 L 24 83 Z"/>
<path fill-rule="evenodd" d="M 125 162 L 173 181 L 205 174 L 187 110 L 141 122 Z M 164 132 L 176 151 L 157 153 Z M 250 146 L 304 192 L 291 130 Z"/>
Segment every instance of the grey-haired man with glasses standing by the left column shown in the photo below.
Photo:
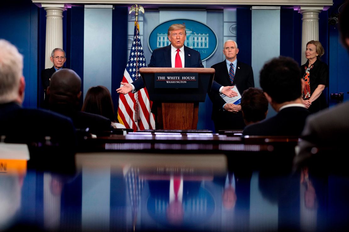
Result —
<path fill-rule="evenodd" d="M 50 57 L 51 62 L 53 63 L 52 68 L 44 69 L 41 72 L 41 81 L 45 91 L 45 98 L 43 108 L 48 108 L 49 97 L 47 96 L 47 87 L 50 85 L 51 76 L 55 71 L 58 71 L 63 68 L 64 63 L 66 62 L 65 52 L 61 48 L 53 49 Z"/>

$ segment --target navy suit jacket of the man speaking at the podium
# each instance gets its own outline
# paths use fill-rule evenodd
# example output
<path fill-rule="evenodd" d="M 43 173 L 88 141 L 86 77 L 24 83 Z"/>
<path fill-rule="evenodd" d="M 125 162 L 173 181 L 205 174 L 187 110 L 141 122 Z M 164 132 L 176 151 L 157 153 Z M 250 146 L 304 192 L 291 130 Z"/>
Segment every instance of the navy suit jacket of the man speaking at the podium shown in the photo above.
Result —
<path fill-rule="evenodd" d="M 171 68 L 171 45 L 157 48 L 151 54 L 150 63 L 148 68 Z M 184 46 L 184 68 L 203 68 L 200 53 L 192 48 Z M 138 91 L 144 88 L 144 83 L 142 78 L 138 78 L 132 83 L 135 90 Z M 212 84 L 212 90 L 218 92 L 221 85 L 214 82 Z"/>

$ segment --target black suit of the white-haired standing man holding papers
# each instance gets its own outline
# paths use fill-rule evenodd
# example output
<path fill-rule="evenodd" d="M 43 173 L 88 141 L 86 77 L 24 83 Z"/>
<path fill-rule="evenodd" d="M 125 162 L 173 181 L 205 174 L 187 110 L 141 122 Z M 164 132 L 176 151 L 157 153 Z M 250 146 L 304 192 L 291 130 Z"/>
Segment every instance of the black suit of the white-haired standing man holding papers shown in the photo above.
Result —
<path fill-rule="evenodd" d="M 223 86 L 236 85 L 240 94 L 250 87 L 254 87 L 252 67 L 243 62 L 237 62 L 235 70 L 235 78 L 233 84 L 230 82 L 229 73 L 227 69 L 227 62 L 217 63 L 211 68 L 216 70 L 215 81 Z M 242 130 L 245 127 L 242 112 L 232 113 L 223 110 L 225 101 L 215 92 L 210 92 L 209 97 L 213 103 L 212 120 L 215 123 L 216 132 L 218 130 Z"/>

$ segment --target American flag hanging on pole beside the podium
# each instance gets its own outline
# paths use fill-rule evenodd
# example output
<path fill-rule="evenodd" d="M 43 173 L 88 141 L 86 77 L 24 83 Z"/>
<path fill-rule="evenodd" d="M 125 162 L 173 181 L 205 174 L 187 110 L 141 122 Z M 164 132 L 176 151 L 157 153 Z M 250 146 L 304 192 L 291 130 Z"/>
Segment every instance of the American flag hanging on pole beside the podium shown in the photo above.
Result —
<path fill-rule="evenodd" d="M 125 68 L 122 82 L 132 83 L 142 78 L 139 69 L 146 66 L 146 58 L 139 36 L 139 24 L 135 21 L 133 44 Z M 120 85 L 121 87 L 121 85 Z M 138 130 L 155 130 L 155 117 L 150 112 L 153 102 L 149 100 L 148 91 L 142 88 L 136 93 L 119 95 L 118 120 L 126 128 Z"/>

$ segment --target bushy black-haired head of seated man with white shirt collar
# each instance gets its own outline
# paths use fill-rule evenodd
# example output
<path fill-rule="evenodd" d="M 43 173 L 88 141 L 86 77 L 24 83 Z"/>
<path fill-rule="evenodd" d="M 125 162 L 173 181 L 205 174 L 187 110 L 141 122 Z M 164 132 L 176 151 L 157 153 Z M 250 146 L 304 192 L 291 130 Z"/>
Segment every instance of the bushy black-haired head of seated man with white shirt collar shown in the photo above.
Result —
<path fill-rule="evenodd" d="M 260 86 L 276 103 L 296 100 L 302 91 L 298 63 L 285 56 L 268 61 L 260 71 Z"/>

